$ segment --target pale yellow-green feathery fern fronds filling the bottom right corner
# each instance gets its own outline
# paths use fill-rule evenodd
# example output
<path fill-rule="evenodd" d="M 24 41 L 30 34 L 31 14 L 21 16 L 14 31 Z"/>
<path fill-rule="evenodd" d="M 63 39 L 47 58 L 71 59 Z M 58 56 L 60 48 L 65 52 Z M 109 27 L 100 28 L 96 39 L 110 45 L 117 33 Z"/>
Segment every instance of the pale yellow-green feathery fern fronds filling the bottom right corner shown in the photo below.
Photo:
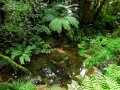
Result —
<path fill-rule="evenodd" d="M 109 65 L 102 74 L 99 70 L 95 69 L 95 72 L 90 76 L 85 76 L 85 79 L 81 80 L 80 76 L 77 76 L 81 83 L 78 84 L 76 81 L 72 81 L 69 84 L 69 90 L 119 90 L 120 83 L 120 66 L 115 64 Z"/>

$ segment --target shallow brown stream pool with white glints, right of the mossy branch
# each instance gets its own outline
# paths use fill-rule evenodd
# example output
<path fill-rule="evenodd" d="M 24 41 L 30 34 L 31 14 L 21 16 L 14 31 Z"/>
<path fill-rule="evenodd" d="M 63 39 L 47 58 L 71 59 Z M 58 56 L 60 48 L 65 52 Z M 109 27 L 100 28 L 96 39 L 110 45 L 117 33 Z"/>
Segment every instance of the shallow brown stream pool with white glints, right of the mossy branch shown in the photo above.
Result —
<path fill-rule="evenodd" d="M 46 85 L 63 84 L 80 74 L 82 59 L 76 48 L 54 48 L 51 54 L 34 57 L 27 68 Z"/>

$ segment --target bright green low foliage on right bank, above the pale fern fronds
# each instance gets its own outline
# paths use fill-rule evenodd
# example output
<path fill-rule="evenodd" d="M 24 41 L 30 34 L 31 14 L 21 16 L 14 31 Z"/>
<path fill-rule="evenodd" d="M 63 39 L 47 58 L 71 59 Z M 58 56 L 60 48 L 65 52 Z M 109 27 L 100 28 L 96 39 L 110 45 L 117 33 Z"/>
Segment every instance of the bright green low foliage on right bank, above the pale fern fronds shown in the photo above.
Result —
<path fill-rule="evenodd" d="M 87 66 L 99 65 L 101 63 L 117 60 L 120 52 L 120 38 L 108 38 L 98 36 L 96 39 L 91 40 L 91 47 L 84 50 L 82 55 L 89 53 L 92 58 L 86 58 L 85 63 Z M 81 51 L 79 51 L 81 53 Z"/>

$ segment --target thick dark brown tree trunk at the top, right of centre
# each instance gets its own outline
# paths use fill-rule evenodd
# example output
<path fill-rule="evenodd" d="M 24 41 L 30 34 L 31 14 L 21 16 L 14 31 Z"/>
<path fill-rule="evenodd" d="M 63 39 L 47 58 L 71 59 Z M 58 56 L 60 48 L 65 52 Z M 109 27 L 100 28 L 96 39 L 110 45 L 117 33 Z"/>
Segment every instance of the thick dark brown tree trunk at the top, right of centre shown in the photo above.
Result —
<path fill-rule="evenodd" d="M 94 23 L 99 19 L 99 14 L 108 0 L 77 0 L 79 4 L 78 15 L 80 25 L 87 25 Z M 94 2 L 94 5 L 91 9 L 91 4 Z"/>

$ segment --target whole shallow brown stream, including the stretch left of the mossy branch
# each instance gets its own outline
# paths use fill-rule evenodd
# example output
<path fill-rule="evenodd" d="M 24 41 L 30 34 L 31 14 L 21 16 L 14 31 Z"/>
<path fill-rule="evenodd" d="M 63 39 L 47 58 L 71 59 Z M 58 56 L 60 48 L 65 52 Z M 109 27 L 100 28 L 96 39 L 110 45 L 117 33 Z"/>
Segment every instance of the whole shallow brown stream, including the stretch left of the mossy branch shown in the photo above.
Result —
<path fill-rule="evenodd" d="M 35 85 L 66 86 L 74 76 L 86 74 L 86 69 L 82 69 L 83 66 L 85 64 L 78 56 L 76 48 L 53 48 L 50 54 L 34 56 L 31 62 L 26 64 L 26 68 L 32 72 L 32 76 L 26 76 L 20 71 L 8 67 L 0 72 L 0 82 L 33 79 L 32 83 Z M 91 71 L 92 69 L 87 74 Z"/>

